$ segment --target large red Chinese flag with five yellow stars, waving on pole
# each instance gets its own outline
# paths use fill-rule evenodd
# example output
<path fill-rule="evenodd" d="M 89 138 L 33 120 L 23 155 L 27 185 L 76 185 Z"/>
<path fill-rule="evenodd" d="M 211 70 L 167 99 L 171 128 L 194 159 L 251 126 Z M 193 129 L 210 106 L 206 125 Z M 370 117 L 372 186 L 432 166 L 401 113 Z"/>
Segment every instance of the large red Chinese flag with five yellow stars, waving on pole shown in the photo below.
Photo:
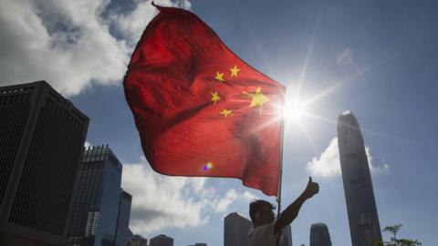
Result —
<path fill-rule="evenodd" d="M 123 82 L 152 169 L 242 179 L 276 195 L 285 88 L 235 56 L 198 16 L 158 8 Z"/>

